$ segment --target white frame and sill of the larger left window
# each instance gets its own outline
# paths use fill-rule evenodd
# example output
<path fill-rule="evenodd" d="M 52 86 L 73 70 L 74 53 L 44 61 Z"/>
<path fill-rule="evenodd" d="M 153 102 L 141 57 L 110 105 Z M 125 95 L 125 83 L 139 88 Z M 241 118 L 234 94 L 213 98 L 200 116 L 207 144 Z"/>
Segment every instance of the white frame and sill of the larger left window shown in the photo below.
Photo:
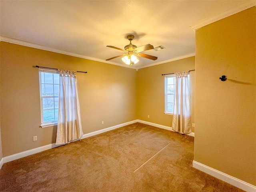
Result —
<path fill-rule="evenodd" d="M 57 70 L 50 70 L 50 69 L 39 69 L 39 90 L 40 90 L 40 113 L 41 113 L 41 127 L 50 127 L 58 124 L 58 118 L 54 121 L 44 122 L 44 105 L 43 105 L 43 98 L 59 98 L 59 96 L 42 96 L 42 73 L 51 73 L 51 74 L 59 74 Z M 59 77 L 60 83 L 60 77 Z M 54 85 L 54 79 L 53 79 Z M 54 89 L 54 86 L 53 86 Z M 55 104 L 53 104 L 55 105 Z M 55 106 L 54 106 L 54 113 L 55 113 Z"/>

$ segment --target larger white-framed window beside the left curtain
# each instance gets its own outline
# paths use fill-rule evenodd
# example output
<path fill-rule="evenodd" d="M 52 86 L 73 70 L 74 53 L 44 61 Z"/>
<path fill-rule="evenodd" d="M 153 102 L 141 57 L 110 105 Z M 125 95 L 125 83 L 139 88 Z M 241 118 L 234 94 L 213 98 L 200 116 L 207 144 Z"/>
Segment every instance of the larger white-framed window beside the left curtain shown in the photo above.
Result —
<path fill-rule="evenodd" d="M 58 122 L 60 75 L 55 70 L 39 70 L 41 126 Z"/>

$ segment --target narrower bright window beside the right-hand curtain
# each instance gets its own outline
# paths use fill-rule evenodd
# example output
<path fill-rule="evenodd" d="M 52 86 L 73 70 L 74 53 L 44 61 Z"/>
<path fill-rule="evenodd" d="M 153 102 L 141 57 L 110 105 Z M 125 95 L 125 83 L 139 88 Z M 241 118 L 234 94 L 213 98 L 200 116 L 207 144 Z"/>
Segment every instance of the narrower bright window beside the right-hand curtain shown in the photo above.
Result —
<path fill-rule="evenodd" d="M 173 113 L 175 93 L 175 76 L 165 76 L 165 110 L 164 113 Z"/>

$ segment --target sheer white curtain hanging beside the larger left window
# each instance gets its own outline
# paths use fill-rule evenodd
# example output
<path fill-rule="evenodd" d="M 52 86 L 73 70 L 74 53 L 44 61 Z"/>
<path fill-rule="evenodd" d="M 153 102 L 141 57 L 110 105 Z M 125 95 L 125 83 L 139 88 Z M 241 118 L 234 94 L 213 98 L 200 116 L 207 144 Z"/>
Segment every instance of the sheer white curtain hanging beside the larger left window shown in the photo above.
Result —
<path fill-rule="evenodd" d="M 56 144 L 67 144 L 83 136 L 76 71 L 58 70 L 60 95 Z"/>

